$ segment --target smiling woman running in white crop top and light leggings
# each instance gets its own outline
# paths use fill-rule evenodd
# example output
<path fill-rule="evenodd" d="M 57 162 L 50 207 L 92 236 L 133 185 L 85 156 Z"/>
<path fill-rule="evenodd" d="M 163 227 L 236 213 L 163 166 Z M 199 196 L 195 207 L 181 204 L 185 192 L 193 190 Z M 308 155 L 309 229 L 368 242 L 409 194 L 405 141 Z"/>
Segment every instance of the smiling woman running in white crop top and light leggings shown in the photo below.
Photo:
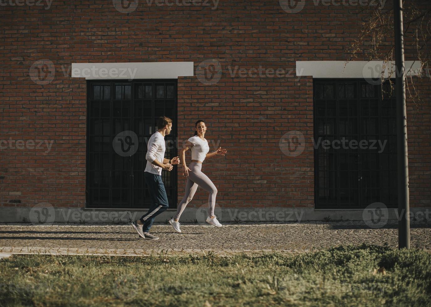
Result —
<path fill-rule="evenodd" d="M 209 178 L 202 173 L 202 162 L 205 159 L 212 158 L 216 155 L 226 155 L 227 150 L 219 147 L 215 152 L 209 152 L 208 141 L 205 139 L 206 126 L 204 121 L 197 121 L 195 124 L 196 131 L 194 136 L 186 141 L 185 147 L 181 149 L 181 159 L 183 161 L 183 175 L 187 176 L 187 183 L 185 188 L 185 194 L 183 199 L 178 205 L 177 214 L 175 218 L 169 220 L 169 223 L 174 227 L 174 229 L 181 233 L 180 219 L 181 213 L 186 208 L 187 204 L 192 200 L 197 187 L 200 186 L 209 192 L 208 197 L 208 217 L 206 222 L 214 226 L 221 227 L 222 224 L 219 223 L 217 217 L 214 215 L 215 207 L 215 196 L 217 195 L 217 189 Z M 185 152 L 191 149 L 191 163 L 187 167 L 185 163 Z"/>

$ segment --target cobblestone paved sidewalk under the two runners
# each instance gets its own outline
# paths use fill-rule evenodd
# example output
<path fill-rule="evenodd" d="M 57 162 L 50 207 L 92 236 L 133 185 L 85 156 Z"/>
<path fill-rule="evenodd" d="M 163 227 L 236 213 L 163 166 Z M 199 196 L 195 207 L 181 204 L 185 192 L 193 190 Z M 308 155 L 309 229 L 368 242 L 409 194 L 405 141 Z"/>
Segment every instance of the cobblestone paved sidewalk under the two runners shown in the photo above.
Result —
<path fill-rule="evenodd" d="M 411 223 L 410 246 L 431 252 L 431 224 Z M 167 255 L 268 251 L 298 253 L 331 245 L 372 243 L 398 246 L 398 224 L 374 229 L 364 222 L 240 223 L 214 227 L 181 224 L 182 233 L 170 225 L 155 224 L 151 233 L 159 240 L 141 239 L 131 225 L 0 225 L 0 253 Z"/>

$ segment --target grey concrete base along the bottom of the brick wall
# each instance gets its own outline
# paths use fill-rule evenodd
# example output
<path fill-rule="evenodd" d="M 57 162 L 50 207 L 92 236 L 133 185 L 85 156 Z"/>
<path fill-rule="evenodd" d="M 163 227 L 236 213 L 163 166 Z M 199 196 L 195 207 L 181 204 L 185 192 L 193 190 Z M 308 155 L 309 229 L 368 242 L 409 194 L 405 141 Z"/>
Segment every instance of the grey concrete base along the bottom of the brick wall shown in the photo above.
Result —
<path fill-rule="evenodd" d="M 43 203 L 42 203 L 43 204 Z M 48 203 L 45 203 L 48 204 Z M 0 223 L 128 223 L 139 219 L 144 210 L 53 208 L 38 205 L 31 208 L 6 207 L 0 209 Z M 175 216 L 176 209 L 168 209 L 156 217 L 155 222 L 167 222 Z M 315 210 L 313 208 L 220 208 L 215 215 L 222 222 L 301 222 L 301 221 L 369 221 L 381 223 L 399 220 L 396 209 L 381 206 L 365 210 Z M 207 208 L 186 208 L 181 223 L 205 223 Z M 430 221 L 431 208 L 410 208 L 408 217 L 412 221 Z"/>

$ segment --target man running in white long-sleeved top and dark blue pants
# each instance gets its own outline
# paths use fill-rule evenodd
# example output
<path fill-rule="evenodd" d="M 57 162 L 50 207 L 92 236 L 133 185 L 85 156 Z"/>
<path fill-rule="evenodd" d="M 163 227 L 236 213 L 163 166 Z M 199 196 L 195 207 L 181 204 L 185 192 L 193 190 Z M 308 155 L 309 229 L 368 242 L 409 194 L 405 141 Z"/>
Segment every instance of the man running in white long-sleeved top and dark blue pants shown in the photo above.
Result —
<path fill-rule="evenodd" d="M 162 116 L 157 121 L 156 131 L 148 140 L 147 145 L 147 165 L 144 171 L 144 178 L 150 190 L 152 204 L 147 214 L 132 223 L 133 228 L 142 238 L 146 240 L 157 240 L 159 237 L 149 233 L 153 225 L 154 218 L 169 207 L 168 196 L 165 185 L 162 181 L 162 169 L 172 171 L 173 164 L 179 164 L 177 157 L 165 159 L 165 135 L 169 135 L 172 130 L 172 119 Z"/>

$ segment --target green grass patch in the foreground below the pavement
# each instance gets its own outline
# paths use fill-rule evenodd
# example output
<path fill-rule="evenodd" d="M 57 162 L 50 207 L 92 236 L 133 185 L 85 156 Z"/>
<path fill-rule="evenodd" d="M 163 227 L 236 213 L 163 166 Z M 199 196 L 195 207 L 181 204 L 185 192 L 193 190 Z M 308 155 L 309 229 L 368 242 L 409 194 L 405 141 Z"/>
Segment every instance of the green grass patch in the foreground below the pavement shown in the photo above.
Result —
<path fill-rule="evenodd" d="M 1 306 L 430 306 L 431 254 L 347 245 L 297 255 L 0 260 Z"/>

